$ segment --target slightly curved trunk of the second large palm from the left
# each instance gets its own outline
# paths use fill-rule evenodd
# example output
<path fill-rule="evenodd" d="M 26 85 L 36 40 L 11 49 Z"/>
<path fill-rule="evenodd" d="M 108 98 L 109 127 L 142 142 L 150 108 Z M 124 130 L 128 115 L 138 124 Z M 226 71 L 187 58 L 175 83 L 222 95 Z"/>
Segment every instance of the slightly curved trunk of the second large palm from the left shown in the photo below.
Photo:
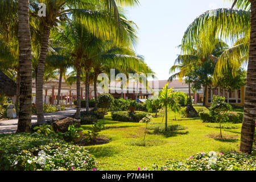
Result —
<path fill-rule="evenodd" d="M 44 33 L 41 43 L 41 51 L 38 63 L 38 73 L 36 75 L 36 115 L 38 116 L 38 124 L 44 123 L 43 114 L 43 77 L 44 77 L 44 65 L 46 64 L 46 55 L 48 51 L 49 33 L 50 27 L 44 26 Z"/>

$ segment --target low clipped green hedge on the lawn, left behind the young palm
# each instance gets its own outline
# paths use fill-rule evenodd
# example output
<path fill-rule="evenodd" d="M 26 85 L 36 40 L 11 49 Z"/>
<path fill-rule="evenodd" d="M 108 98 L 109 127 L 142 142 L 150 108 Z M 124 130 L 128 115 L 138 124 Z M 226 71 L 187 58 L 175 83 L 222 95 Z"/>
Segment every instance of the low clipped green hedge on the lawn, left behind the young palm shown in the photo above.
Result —
<path fill-rule="evenodd" d="M 139 122 L 142 118 L 146 117 L 147 113 L 142 111 L 136 111 L 135 113 L 130 113 L 128 111 L 115 111 L 112 112 L 112 118 L 114 121 L 122 122 Z"/>

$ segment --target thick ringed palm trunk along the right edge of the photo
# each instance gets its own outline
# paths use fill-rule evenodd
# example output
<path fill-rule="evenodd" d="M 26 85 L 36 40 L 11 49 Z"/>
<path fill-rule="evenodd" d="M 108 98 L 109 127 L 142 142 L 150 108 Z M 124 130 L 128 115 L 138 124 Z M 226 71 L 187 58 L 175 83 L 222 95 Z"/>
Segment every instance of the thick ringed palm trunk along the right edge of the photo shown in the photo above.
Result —
<path fill-rule="evenodd" d="M 245 108 L 241 131 L 240 151 L 251 154 L 256 119 L 256 2 L 251 1 L 251 33 L 247 68 Z"/>

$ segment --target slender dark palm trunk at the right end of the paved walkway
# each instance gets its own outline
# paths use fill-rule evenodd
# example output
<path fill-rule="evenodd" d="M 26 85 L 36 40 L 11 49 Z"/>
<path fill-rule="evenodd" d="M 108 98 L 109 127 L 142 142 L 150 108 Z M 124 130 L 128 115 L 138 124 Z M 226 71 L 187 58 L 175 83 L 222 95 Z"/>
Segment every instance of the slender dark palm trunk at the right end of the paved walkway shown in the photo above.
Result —
<path fill-rule="evenodd" d="M 77 94 L 77 100 L 76 100 L 76 119 L 80 119 L 81 114 L 81 67 L 79 63 L 76 64 L 76 94 Z"/>

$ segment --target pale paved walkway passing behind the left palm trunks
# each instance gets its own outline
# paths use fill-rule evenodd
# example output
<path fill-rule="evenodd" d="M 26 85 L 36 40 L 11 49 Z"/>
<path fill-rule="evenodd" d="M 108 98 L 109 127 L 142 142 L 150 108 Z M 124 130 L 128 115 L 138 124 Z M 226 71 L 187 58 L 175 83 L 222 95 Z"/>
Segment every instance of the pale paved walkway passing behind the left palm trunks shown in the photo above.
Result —
<path fill-rule="evenodd" d="M 51 119 L 63 119 L 67 117 L 71 117 L 76 113 L 76 109 L 66 108 L 66 110 L 58 111 L 56 113 L 46 113 L 44 114 L 44 118 L 47 120 Z M 36 123 L 37 117 L 36 115 L 32 115 L 32 123 Z M 1 133 L 15 133 L 18 126 L 18 119 L 9 119 L 5 121 L 0 121 L 0 134 Z"/>

